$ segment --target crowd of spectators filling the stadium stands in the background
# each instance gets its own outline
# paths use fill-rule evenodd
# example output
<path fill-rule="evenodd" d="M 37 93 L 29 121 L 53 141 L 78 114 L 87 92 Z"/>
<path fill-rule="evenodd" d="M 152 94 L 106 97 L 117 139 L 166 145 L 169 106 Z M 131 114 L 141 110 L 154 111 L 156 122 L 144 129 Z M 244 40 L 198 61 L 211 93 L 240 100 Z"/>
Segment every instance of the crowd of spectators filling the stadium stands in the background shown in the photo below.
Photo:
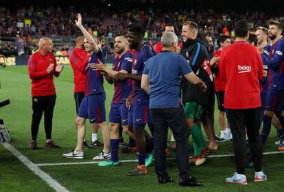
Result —
<path fill-rule="evenodd" d="M 78 12 L 74 6 L 69 8 L 18 8 L 9 10 L 4 6 L 0 8 L 0 36 L 16 37 L 16 46 L 19 53 L 30 55 L 36 49 L 38 38 L 49 36 L 52 38 L 66 38 L 69 41 L 62 44 L 56 44 L 58 49 L 64 49 L 63 46 L 73 44 L 73 35 L 75 33 L 75 14 Z M 250 28 L 255 29 L 263 25 L 270 18 L 281 21 L 284 24 L 283 12 L 268 14 L 267 12 L 243 11 L 233 12 L 224 10 L 215 12 L 212 8 L 189 9 L 170 12 L 163 10 L 154 10 L 153 8 L 136 8 L 131 11 L 106 13 L 103 8 L 80 8 L 84 17 L 84 27 L 88 29 L 93 36 L 98 36 L 106 40 L 108 50 L 111 52 L 113 37 L 126 31 L 127 26 L 138 21 L 143 23 L 147 32 L 145 39 L 159 40 L 163 29 L 167 23 L 175 26 L 176 34 L 180 34 L 182 23 L 186 20 L 193 20 L 204 32 L 211 36 L 219 36 L 224 33 L 232 38 L 235 36 L 233 27 L 236 20 L 246 18 L 250 22 Z M 69 49 L 70 50 L 70 49 Z M 62 50 L 64 51 L 64 50 Z"/>

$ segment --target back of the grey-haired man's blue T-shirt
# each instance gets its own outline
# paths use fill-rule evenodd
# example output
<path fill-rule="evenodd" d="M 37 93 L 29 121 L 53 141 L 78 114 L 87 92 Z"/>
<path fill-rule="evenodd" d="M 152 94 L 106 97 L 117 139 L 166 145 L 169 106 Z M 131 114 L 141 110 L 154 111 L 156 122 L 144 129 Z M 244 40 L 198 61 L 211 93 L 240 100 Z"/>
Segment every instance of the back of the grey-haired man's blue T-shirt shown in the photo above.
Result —
<path fill-rule="evenodd" d="M 151 90 L 150 108 L 178 107 L 182 74 L 181 59 L 184 59 L 181 55 L 162 51 L 147 60 Z"/>

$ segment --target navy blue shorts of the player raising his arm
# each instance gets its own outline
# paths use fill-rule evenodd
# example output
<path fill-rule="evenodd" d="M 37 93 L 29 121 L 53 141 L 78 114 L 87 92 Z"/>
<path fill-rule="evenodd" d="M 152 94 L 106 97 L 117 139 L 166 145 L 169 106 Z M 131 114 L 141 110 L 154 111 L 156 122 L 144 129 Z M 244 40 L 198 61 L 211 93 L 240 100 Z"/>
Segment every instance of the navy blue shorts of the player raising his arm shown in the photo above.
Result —
<path fill-rule="evenodd" d="M 106 108 L 104 102 L 106 101 L 106 94 L 99 93 L 89 96 L 84 96 L 78 116 L 80 118 L 88 118 L 90 123 L 101 123 L 106 121 Z"/>

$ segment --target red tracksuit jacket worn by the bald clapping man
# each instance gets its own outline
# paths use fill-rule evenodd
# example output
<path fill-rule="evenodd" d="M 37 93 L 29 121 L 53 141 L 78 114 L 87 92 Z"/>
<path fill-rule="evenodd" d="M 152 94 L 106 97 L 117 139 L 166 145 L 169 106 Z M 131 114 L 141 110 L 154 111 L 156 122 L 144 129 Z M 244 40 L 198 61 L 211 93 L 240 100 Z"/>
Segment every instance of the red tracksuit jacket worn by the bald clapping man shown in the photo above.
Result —
<path fill-rule="evenodd" d="M 54 64 L 54 70 L 47 73 L 50 64 Z M 29 78 L 32 79 L 32 96 L 49 96 L 56 94 L 54 87 L 54 76 L 59 77 L 59 72 L 55 72 L 56 58 L 54 54 L 41 55 L 40 51 L 29 56 L 27 70 Z"/>

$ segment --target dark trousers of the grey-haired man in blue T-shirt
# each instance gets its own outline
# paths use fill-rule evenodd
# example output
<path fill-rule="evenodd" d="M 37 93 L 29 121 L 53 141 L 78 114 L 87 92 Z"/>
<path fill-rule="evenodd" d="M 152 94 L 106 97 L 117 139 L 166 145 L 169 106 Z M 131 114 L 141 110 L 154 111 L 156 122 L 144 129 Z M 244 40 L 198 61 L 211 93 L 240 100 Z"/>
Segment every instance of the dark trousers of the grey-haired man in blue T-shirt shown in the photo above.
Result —
<path fill-rule="evenodd" d="M 176 160 L 180 178 L 189 176 L 189 128 L 182 108 L 150 109 L 154 128 L 155 172 L 158 177 L 167 176 L 165 148 L 167 131 L 171 128 L 176 139 Z M 169 128 L 168 128 L 169 127 Z"/>

